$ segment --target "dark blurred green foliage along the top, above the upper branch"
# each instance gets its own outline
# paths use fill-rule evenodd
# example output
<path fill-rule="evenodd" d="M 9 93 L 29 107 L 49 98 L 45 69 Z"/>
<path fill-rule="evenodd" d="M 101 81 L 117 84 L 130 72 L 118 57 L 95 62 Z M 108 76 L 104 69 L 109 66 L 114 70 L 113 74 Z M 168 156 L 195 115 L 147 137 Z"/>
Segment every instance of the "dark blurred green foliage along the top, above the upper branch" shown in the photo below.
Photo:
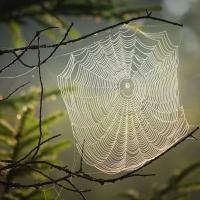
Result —
<path fill-rule="evenodd" d="M 68 16 L 92 17 L 96 20 L 115 20 L 126 19 L 132 15 L 140 15 L 145 9 L 151 11 L 161 10 L 159 4 L 145 4 L 138 6 L 138 3 L 127 0 L 20 0 L 3 1 L 0 3 L 0 23 L 9 25 L 13 45 L 15 47 L 24 46 L 25 42 L 22 37 L 21 26 L 31 19 L 40 26 L 56 26 L 58 30 L 48 30 L 45 35 L 53 42 L 58 42 L 62 34 L 68 29 L 70 21 Z M 79 32 L 72 28 L 69 36 L 71 38 L 79 37 Z"/>

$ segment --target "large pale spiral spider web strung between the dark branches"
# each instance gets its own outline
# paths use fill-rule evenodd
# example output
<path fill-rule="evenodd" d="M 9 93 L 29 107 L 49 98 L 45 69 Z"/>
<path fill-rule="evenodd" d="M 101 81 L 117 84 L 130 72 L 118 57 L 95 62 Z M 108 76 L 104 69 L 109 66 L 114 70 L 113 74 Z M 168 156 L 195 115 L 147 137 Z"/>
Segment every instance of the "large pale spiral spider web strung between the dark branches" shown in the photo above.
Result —
<path fill-rule="evenodd" d="M 136 170 L 188 133 L 178 62 L 167 31 L 128 26 L 70 54 L 57 81 L 87 164 Z"/>

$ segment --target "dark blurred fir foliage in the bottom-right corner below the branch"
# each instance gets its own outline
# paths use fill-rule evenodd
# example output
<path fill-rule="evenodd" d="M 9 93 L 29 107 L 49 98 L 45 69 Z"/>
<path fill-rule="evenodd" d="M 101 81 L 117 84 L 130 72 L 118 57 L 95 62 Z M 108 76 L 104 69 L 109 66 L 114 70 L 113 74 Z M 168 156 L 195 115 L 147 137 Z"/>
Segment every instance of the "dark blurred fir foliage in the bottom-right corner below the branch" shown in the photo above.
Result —
<path fill-rule="evenodd" d="M 147 200 L 188 200 L 192 192 L 200 191 L 199 172 L 200 162 L 196 162 L 174 173 L 166 184 L 153 188 L 151 197 Z M 135 190 L 124 192 L 119 196 L 124 200 L 142 200 Z"/>

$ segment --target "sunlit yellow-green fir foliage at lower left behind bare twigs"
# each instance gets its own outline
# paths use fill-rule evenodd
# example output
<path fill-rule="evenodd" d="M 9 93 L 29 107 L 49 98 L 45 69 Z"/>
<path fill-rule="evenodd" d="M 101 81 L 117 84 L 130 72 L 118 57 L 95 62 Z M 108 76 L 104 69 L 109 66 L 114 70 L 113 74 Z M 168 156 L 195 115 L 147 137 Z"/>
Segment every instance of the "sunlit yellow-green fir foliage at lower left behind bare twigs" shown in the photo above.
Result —
<path fill-rule="evenodd" d="M 57 94 L 57 90 L 46 92 L 44 94 L 44 101 L 55 100 Z M 37 88 L 32 88 L 26 94 L 22 92 L 21 95 L 0 103 L 0 160 L 18 160 L 37 145 L 39 138 L 39 119 L 36 111 L 38 110 L 39 95 L 39 90 Z M 17 117 L 13 119 L 6 118 L 5 113 L 8 111 L 8 108 L 11 109 L 13 115 Z M 62 117 L 62 112 L 55 112 L 42 119 L 42 140 L 52 136 L 50 127 Z M 70 141 L 66 139 L 50 142 L 40 148 L 34 160 L 51 161 L 53 164 L 59 164 L 59 154 L 61 151 L 69 148 L 70 145 Z M 30 159 L 31 156 L 28 157 L 26 161 Z M 51 170 L 48 166 L 42 166 L 41 164 L 34 164 L 32 167 L 34 167 L 34 170 L 29 167 L 7 170 L 3 174 L 3 177 L 8 182 L 19 180 L 35 182 L 46 179 L 41 174 L 38 174 L 36 170 L 40 170 L 47 175 Z M 3 200 L 41 200 L 45 198 L 53 200 L 56 196 L 54 190 L 42 191 L 42 189 L 34 188 L 10 189 L 5 186 L 3 191 Z"/>

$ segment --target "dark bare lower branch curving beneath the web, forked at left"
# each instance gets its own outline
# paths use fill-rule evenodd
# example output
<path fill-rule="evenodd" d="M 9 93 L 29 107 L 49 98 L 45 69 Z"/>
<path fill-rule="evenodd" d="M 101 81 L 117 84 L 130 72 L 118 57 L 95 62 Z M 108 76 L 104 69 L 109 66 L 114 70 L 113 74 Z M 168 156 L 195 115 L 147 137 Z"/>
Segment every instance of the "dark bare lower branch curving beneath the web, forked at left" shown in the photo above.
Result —
<path fill-rule="evenodd" d="M 72 183 L 70 181 L 71 178 L 81 178 L 83 180 L 87 180 L 87 181 L 90 181 L 90 182 L 95 182 L 95 183 L 99 183 L 99 184 L 103 185 L 103 184 L 106 184 L 106 183 L 115 183 L 117 181 L 122 181 L 124 179 L 130 178 L 130 177 L 135 177 L 135 176 L 140 176 L 140 177 L 154 176 L 155 174 L 136 174 L 136 172 L 139 171 L 139 170 L 141 170 L 145 166 L 149 165 L 150 163 L 154 162 L 159 157 L 165 155 L 168 151 L 170 151 L 171 149 L 175 148 L 177 145 L 181 144 L 187 138 L 193 136 L 193 134 L 198 129 L 199 129 L 199 127 L 195 128 L 193 131 L 191 131 L 189 134 L 187 134 L 185 137 L 183 137 L 180 141 L 176 142 L 173 146 L 171 146 L 167 151 L 165 151 L 164 153 L 162 153 L 159 156 L 155 157 L 153 160 L 147 162 L 142 167 L 140 167 L 140 168 L 138 168 L 138 169 L 136 169 L 134 171 L 128 172 L 128 173 L 126 173 L 124 175 L 121 175 L 119 177 L 116 177 L 116 178 L 111 178 L 111 179 L 96 178 L 96 177 L 93 177 L 90 174 L 87 174 L 87 173 L 84 173 L 84 172 L 78 172 L 78 171 L 77 172 L 73 172 L 73 171 L 69 170 L 66 167 L 55 165 L 55 164 L 47 162 L 47 161 L 31 160 L 31 161 L 25 161 L 22 164 L 21 161 L 24 160 L 24 159 L 21 159 L 20 162 L 17 161 L 17 163 L 18 163 L 17 165 L 16 165 L 16 163 L 14 161 L 1 161 L 1 162 L 8 163 L 8 165 L 5 166 L 4 168 L 1 168 L 0 172 L 3 171 L 3 170 L 7 170 L 9 168 L 11 168 L 11 170 L 12 170 L 13 168 L 16 168 L 16 167 L 24 167 L 24 166 L 31 166 L 31 165 L 35 165 L 35 164 L 42 164 L 42 165 L 48 165 L 48 166 L 50 166 L 53 169 L 57 169 L 59 171 L 65 172 L 66 175 L 64 177 L 61 177 L 61 178 L 58 178 L 58 179 L 53 179 L 53 180 L 50 180 L 50 178 L 48 178 L 49 181 L 45 181 L 45 182 L 41 182 L 41 183 L 36 183 L 36 184 L 11 183 L 11 182 L 5 182 L 5 181 L 2 181 L 2 180 L 0 180 L 0 184 L 6 185 L 8 187 L 19 187 L 19 188 L 20 187 L 21 188 L 32 188 L 32 187 L 34 187 L 34 188 L 37 188 L 37 187 L 42 187 L 42 186 L 46 186 L 46 185 L 50 185 L 50 184 L 56 184 L 56 183 L 59 183 L 61 181 L 66 181 L 66 182 L 68 182 L 72 186 Z M 10 163 L 12 163 L 12 164 L 10 164 Z M 80 194 L 82 196 L 83 192 L 88 192 L 89 190 L 83 190 L 83 191 L 81 191 L 81 190 L 79 190 L 77 188 L 74 188 L 73 191 L 77 192 L 78 194 Z M 82 196 L 82 198 L 85 199 L 84 195 Z"/>

